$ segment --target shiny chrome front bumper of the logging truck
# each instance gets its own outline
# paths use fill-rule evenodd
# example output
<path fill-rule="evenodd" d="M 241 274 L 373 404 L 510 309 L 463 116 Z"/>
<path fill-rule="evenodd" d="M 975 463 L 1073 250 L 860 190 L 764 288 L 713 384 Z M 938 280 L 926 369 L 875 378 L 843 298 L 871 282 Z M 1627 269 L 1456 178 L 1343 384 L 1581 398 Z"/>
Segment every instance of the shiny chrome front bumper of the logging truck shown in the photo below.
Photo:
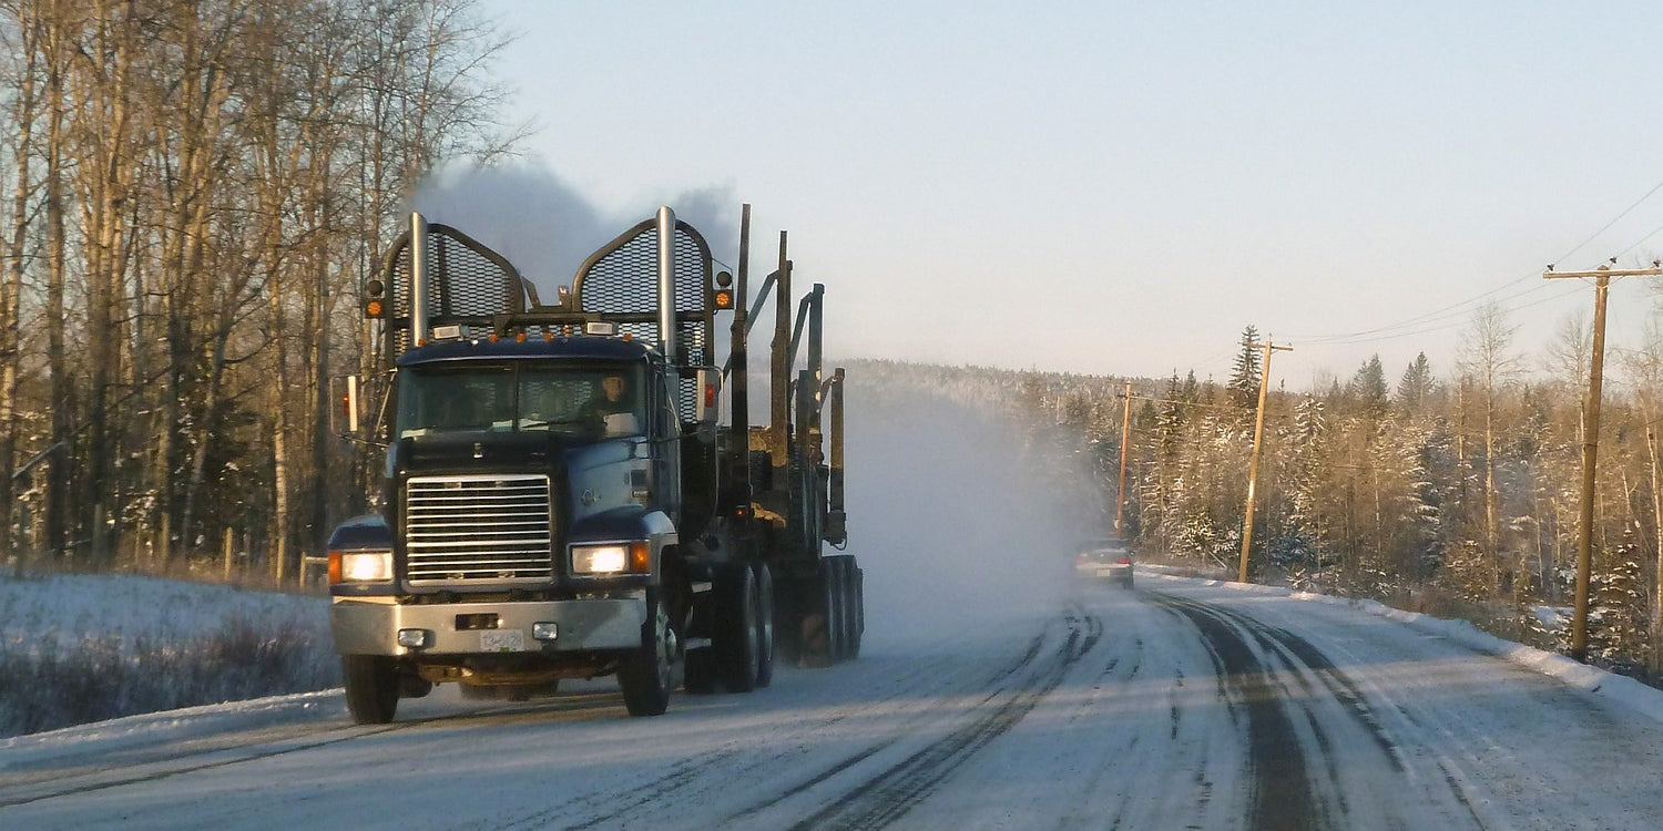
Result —
<path fill-rule="evenodd" d="M 521 603 L 397 605 L 336 598 L 329 628 L 341 655 L 501 655 L 630 650 L 647 622 L 640 597 Z M 554 638 L 537 640 L 552 625 Z M 422 647 L 401 647 L 399 632 L 424 632 Z"/>

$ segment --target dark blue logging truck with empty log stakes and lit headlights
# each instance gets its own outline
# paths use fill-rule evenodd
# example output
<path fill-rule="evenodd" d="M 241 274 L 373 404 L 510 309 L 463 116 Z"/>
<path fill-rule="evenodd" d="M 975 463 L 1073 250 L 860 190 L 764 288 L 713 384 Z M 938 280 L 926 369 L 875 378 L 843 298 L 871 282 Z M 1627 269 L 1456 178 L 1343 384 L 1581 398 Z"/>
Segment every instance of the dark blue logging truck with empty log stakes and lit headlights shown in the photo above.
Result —
<path fill-rule="evenodd" d="M 436 683 L 526 700 L 604 675 L 650 716 L 677 686 L 767 686 L 777 643 L 805 665 L 860 653 L 861 570 L 827 550 L 846 534 L 825 289 L 793 319 L 782 233 L 755 301 L 772 289 L 770 424 L 750 425 L 748 236 L 745 206 L 735 284 L 660 208 L 544 304 L 496 251 L 411 216 L 366 286 L 381 371 L 344 396 L 386 450 L 381 512 L 329 538 L 358 723 Z"/>

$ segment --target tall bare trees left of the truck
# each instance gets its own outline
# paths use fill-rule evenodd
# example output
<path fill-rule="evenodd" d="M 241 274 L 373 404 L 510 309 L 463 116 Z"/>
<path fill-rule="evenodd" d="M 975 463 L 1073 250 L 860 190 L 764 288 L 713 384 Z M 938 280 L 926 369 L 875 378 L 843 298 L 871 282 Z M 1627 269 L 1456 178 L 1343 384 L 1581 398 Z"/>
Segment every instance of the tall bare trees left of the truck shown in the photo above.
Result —
<path fill-rule="evenodd" d="M 0 0 L 0 552 L 293 573 L 416 183 L 512 146 L 474 0 Z"/>

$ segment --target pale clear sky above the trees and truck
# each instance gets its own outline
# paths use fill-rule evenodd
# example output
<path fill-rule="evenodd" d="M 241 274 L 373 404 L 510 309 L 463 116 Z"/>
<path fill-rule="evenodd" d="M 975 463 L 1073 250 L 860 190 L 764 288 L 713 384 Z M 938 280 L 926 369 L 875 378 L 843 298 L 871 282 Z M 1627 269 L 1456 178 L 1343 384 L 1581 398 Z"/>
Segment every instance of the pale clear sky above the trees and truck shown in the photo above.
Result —
<path fill-rule="evenodd" d="M 1663 254 L 1663 193 L 1595 234 L 1663 183 L 1663 3 L 481 10 L 519 35 L 529 181 L 605 228 L 574 258 L 690 199 L 733 263 L 748 201 L 755 274 L 787 229 L 836 356 L 1222 381 L 1254 324 L 1290 389 L 1395 381 L 1448 372 L 1492 291 L 1533 361 L 1593 302 L 1547 263 Z M 1611 302 L 1635 344 L 1653 289 Z"/>

